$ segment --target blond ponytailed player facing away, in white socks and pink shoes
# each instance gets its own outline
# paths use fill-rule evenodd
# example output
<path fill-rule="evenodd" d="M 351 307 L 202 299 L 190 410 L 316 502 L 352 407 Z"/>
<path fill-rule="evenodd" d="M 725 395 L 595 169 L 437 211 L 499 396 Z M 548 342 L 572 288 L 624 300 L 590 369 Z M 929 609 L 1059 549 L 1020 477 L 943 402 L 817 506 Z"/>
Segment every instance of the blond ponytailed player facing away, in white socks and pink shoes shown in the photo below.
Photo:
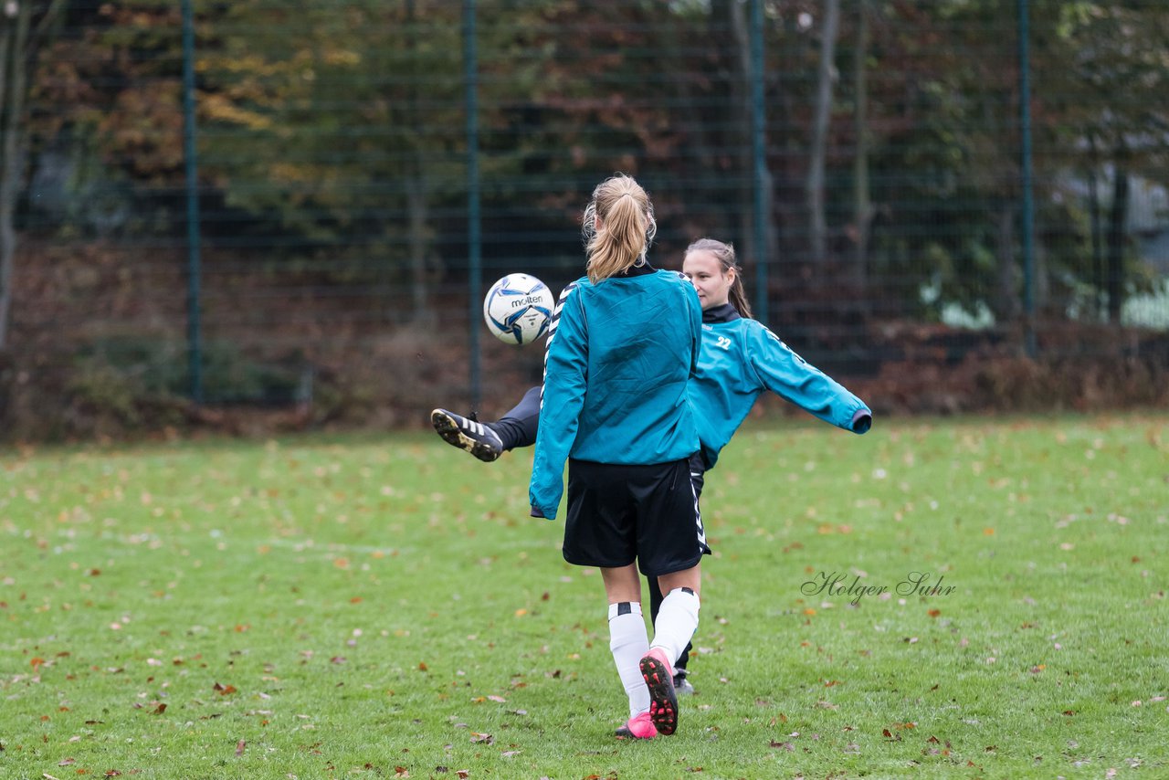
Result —
<path fill-rule="evenodd" d="M 545 353 L 532 461 L 532 515 L 554 518 L 568 461 L 563 557 L 601 570 L 609 649 L 629 698 L 617 736 L 678 724 L 673 664 L 698 627 L 699 561 L 710 552 L 690 481 L 698 450 L 686 395 L 703 311 L 694 287 L 646 257 L 657 223 L 632 177 L 593 191 L 582 220 L 586 276 L 560 295 Z M 649 639 L 642 574 L 665 593 Z"/>

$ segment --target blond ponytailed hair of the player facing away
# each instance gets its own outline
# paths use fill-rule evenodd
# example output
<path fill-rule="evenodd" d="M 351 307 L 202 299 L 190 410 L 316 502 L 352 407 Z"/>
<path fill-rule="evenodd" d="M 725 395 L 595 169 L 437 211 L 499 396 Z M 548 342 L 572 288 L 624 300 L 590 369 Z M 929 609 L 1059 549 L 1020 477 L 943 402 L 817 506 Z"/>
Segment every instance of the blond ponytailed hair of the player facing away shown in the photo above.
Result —
<path fill-rule="evenodd" d="M 602 229 L 597 232 L 596 220 Z M 632 177 L 617 174 L 593 191 L 582 225 L 588 263 L 584 270 L 596 284 L 645 262 L 657 222 L 653 203 Z"/>

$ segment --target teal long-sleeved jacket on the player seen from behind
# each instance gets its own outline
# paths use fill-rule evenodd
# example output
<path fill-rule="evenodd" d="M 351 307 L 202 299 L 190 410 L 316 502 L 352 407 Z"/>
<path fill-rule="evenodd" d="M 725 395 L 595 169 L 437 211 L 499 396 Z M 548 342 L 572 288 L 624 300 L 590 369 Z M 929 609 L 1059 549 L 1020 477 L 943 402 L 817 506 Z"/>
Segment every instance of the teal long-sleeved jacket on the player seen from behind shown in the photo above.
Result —
<path fill-rule="evenodd" d="M 533 515 L 555 518 L 568 457 L 648 465 L 698 451 L 686 392 L 701 317 L 693 285 L 677 271 L 646 265 L 565 289 L 546 346 Z"/>

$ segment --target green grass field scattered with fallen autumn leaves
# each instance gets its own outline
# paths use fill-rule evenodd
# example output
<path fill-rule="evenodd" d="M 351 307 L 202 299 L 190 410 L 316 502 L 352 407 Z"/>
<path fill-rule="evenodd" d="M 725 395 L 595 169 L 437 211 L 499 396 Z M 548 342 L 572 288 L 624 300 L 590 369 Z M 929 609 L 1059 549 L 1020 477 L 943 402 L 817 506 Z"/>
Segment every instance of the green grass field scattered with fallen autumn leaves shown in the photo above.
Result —
<path fill-rule="evenodd" d="M 748 424 L 649 743 L 530 462 L 5 453 L 0 776 L 1169 776 L 1163 415 Z"/>

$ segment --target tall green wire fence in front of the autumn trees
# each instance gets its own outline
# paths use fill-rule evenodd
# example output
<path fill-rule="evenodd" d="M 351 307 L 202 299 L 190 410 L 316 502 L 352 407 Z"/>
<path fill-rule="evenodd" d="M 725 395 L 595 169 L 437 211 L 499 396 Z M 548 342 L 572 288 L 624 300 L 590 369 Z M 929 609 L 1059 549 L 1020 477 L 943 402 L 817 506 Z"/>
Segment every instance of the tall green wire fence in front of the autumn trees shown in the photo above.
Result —
<path fill-rule="evenodd" d="M 1165 400 L 1158 0 L 49 5 L 6 130 L 16 435 L 503 410 L 540 347 L 482 294 L 577 277 L 616 171 L 655 264 L 733 242 L 878 410 Z"/>

